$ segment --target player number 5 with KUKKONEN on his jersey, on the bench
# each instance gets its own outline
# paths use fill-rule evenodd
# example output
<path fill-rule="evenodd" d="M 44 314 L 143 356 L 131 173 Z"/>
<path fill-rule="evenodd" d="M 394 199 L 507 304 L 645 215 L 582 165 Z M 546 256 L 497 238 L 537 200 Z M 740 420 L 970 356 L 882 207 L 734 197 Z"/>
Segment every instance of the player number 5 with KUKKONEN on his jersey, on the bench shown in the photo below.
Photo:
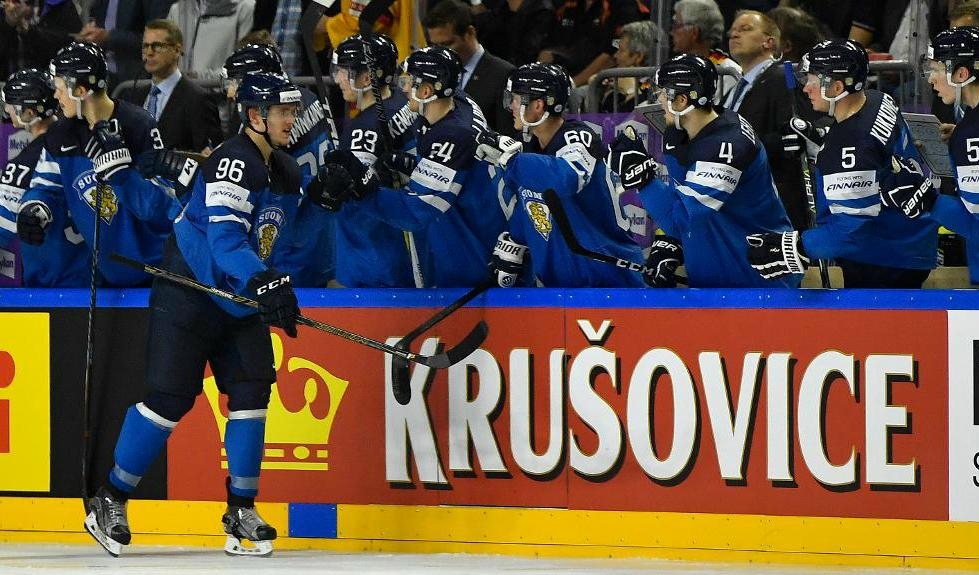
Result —
<path fill-rule="evenodd" d="M 868 70 L 867 52 L 853 40 L 826 40 L 803 57 L 803 91 L 836 124 L 816 156 L 816 226 L 748 239 L 764 277 L 798 275 L 814 258 L 833 259 L 844 287 L 919 288 L 935 267 L 937 226 L 882 205 L 881 190 L 923 179 L 924 162 L 894 100 L 865 89 Z"/>

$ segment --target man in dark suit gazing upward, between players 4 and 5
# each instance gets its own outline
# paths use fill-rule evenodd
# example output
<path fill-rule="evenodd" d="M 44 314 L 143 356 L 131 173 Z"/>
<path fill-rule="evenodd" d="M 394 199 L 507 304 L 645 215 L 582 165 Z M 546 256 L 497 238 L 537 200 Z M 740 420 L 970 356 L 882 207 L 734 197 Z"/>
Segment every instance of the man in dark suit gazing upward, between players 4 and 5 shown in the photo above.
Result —
<path fill-rule="evenodd" d="M 792 227 L 808 229 L 810 216 L 799 152 L 784 151 L 782 135 L 794 110 L 807 120 L 815 119 L 812 105 L 798 90 L 790 92 L 785 85 L 782 62 L 775 56 L 780 33 L 774 20 L 761 12 L 742 10 L 728 36 L 731 56 L 744 75 L 728 94 L 724 107 L 741 114 L 754 128 L 765 146 L 772 178 Z"/>

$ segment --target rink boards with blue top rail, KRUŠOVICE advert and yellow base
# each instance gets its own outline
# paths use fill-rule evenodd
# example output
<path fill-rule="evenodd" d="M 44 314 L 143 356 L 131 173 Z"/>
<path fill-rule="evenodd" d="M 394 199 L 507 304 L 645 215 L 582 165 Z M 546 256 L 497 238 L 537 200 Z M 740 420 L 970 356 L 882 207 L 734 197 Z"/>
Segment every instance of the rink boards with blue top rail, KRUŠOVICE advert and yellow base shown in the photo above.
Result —
<path fill-rule="evenodd" d="M 396 341 L 461 293 L 301 304 Z M 0 291 L 0 537 L 87 537 L 87 295 Z M 146 353 L 145 291 L 101 297 L 93 482 Z M 976 569 L 977 309 L 971 291 L 494 290 L 417 340 L 490 326 L 460 364 L 415 367 L 406 406 L 384 354 L 275 333 L 261 511 L 280 548 Z M 204 389 L 131 506 L 140 542 L 220 544 L 227 410 Z"/>

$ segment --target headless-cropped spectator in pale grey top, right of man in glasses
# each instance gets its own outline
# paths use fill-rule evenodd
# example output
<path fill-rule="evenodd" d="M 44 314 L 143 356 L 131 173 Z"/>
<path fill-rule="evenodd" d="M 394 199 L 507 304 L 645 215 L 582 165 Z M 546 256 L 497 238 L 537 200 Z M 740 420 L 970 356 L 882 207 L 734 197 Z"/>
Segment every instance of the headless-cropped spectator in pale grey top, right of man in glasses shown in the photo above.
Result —
<path fill-rule="evenodd" d="M 224 61 L 252 30 L 255 0 L 177 0 L 167 20 L 184 36 L 180 69 L 191 78 L 218 78 Z"/>

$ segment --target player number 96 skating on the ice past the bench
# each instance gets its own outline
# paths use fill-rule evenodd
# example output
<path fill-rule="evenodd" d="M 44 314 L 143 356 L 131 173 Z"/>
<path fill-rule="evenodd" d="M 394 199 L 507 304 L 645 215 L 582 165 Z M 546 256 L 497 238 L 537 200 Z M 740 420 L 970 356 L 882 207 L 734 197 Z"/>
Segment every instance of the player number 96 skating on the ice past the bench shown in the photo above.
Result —
<path fill-rule="evenodd" d="M 254 309 L 157 279 L 150 294 L 148 392 L 126 412 L 108 481 L 89 500 L 85 528 L 118 555 L 131 535 L 126 502 L 202 391 L 210 364 L 228 395 L 224 445 L 228 507 L 222 521 L 231 554 L 268 555 L 276 530 L 255 511 L 265 414 L 275 381 L 267 325 L 296 336 L 299 313 L 288 275 L 269 262 L 295 216 L 301 175 L 289 154 L 300 115 L 299 89 L 284 76 L 251 73 L 238 88 L 245 127 L 205 160 L 174 223 L 162 266 L 245 295 Z M 254 546 L 244 546 L 243 540 Z"/>

